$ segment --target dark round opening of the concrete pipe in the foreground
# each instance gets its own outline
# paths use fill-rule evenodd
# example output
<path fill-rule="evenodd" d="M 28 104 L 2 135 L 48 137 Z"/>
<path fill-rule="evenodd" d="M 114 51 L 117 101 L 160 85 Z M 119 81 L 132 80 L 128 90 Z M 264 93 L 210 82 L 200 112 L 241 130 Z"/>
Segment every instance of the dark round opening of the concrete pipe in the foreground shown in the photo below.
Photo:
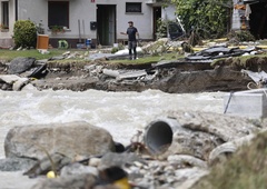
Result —
<path fill-rule="evenodd" d="M 156 121 L 148 127 L 145 143 L 151 153 L 161 153 L 168 150 L 172 136 L 174 132 L 168 122 Z"/>

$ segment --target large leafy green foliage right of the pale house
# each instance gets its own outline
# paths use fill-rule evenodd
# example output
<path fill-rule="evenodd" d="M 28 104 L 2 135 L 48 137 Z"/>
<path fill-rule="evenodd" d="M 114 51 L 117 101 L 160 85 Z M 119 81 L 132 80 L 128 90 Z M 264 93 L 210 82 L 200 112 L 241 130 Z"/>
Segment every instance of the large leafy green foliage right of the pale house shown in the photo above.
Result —
<path fill-rule="evenodd" d="M 201 30 L 204 38 L 219 38 L 229 28 L 233 9 L 230 0 L 171 0 L 185 29 Z"/>

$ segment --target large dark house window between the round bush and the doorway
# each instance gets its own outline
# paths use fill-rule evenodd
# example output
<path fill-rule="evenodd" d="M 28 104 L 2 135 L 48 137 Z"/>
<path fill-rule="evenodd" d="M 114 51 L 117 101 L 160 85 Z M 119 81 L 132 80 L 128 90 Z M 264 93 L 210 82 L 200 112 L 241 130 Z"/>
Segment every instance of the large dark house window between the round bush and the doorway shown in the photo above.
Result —
<path fill-rule="evenodd" d="M 48 26 L 69 28 L 69 1 L 48 1 Z"/>

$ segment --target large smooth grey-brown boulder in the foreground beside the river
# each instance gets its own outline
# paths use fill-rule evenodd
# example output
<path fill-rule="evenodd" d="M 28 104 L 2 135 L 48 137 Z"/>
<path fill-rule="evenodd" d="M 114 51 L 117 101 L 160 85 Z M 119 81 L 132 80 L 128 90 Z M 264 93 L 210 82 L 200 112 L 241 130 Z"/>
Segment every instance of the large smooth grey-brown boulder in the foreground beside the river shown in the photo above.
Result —
<path fill-rule="evenodd" d="M 42 159 L 59 152 L 75 158 L 115 151 L 111 135 L 85 121 L 14 127 L 4 140 L 7 158 Z"/>

